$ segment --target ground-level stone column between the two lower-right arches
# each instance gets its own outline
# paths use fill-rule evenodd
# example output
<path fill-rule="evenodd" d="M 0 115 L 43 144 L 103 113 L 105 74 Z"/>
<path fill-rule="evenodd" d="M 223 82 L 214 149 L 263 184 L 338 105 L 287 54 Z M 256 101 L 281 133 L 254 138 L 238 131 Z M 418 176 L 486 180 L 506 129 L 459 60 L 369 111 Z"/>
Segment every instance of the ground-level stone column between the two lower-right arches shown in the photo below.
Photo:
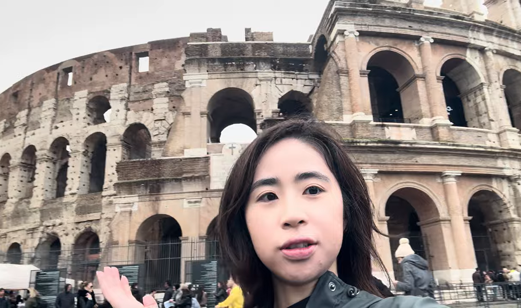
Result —
<path fill-rule="evenodd" d="M 460 175 L 461 172 L 445 171 L 442 173 L 441 179 L 443 181 L 445 202 L 451 217 L 451 229 L 458 269 L 460 270 L 461 280 L 465 280 L 468 279 L 467 275 L 472 275 L 473 269 L 476 268 L 476 258 L 474 256 L 474 248 L 472 247 L 472 238 L 467 238 L 465 220 L 460 203 L 461 197 L 457 189 L 456 176 Z"/>

